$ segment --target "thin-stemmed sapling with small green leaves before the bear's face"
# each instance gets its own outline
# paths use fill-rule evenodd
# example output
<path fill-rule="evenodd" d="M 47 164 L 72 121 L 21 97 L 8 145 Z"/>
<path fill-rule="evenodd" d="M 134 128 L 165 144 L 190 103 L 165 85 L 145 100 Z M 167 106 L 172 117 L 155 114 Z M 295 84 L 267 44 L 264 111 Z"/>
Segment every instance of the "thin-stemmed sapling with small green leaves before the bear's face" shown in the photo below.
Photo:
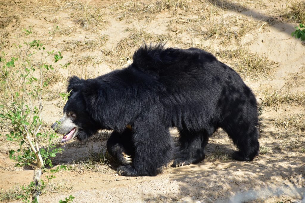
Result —
<path fill-rule="evenodd" d="M 54 70 L 52 65 L 42 60 L 45 47 L 40 40 L 30 41 L 32 31 L 24 30 L 27 41 L 23 46 L 17 45 L 17 54 L 7 59 L 5 53 L 0 57 L 0 124 L 7 129 L 8 141 L 16 142 L 19 147 L 9 151 L 10 159 L 16 161 L 16 167 L 30 167 L 34 170 L 33 181 L 27 187 L 22 187 L 23 193 L 16 198 L 22 198 L 24 202 L 39 202 L 41 192 L 47 187 L 49 180 L 55 178 L 54 173 L 66 166 L 53 168 L 52 157 L 62 152 L 61 148 L 54 148 L 52 139 L 55 133 L 43 129 L 42 120 L 42 94 L 52 78 L 44 78 L 47 72 Z M 51 32 L 50 32 L 51 33 Z M 34 67 L 34 55 L 41 54 L 38 70 Z M 62 59 L 61 53 L 48 52 L 47 56 L 53 56 L 55 62 Z M 31 60 L 30 60 L 31 58 Z M 38 75 L 38 76 L 37 76 Z M 51 74 L 54 76 L 54 74 Z M 17 80 L 16 80 L 17 79 Z M 1 136 L 1 134 L 0 134 Z M 41 141 L 46 140 L 44 145 Z M 47 169 L 50 167 L 51 169 Z M 47 182 L 41 179 L 42 171 L 49 173 Z M 15 188 L 16 189 L 16 188 Z M 6 193 L 7 194 L 7 193 Z"/>

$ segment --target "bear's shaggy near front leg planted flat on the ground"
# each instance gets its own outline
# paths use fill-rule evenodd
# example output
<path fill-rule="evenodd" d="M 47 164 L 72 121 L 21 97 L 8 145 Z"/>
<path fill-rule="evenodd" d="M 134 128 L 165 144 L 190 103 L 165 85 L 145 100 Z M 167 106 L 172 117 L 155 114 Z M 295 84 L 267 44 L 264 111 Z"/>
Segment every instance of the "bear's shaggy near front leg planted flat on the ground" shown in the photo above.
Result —
<path fill-rule="evenodd" d="M 118 174 L 123 176 L 157 175 L 173 157 L 172 138 L 168 128 L 158 123 L 139 122 L 133 126 L 132 130 L 135 147 L 133 166 L 119 166 Z"/>

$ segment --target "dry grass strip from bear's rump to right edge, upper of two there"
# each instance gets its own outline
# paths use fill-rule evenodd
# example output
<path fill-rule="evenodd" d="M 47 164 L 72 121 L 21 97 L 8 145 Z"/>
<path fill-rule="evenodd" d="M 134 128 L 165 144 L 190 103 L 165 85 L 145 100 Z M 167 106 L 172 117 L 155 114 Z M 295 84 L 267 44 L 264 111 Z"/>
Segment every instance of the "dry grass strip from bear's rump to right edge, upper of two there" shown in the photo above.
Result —
<path fill-rule="evenodd" d="M 264 100 L 262 105 L 278 109 L 281 104 L 295 104 L 305 106 L 305 94 L 302 92 L 289 93 L 280 90 L 266 89 L 263 92 Z"/>

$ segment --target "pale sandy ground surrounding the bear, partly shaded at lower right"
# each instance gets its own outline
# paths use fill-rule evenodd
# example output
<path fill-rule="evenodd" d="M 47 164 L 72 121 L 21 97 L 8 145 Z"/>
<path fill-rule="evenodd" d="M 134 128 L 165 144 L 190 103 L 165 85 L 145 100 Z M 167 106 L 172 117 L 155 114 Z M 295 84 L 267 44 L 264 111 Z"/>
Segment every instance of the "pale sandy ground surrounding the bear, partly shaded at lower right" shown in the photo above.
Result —
<path fill-rule="evenodd" d="M 8 34 L 1 35 L 4 46 L 0 48 L 12 53 L 13 44 L 24 40 L 19 35 L 23 28 L 31 27 L 33 38 L 46 41 L 48 32 L 58 26 L 45 46 L 62 51 L 62 63 L 70 61 L 71 65 L 58 70 L 59 79 L 45 93 L 49 98 L 44 105 L 46 126 L 62 114 L 57 94 L 65 91 L 68 76 L 90 78 L 122 68 L 143 41 L 165 40 L 167 46 L 200 47 L 213 54 L 242 47 L 252 57 L 270 61 L 267 72 L 241 74 L 260 103 L 266 100 L 266 90 L 304 94 L 305 46 L 291 37 L 296 22 L 281 15 L 289 2 L 169 2 L 174 2 L 174 6 L 160 9 L 157 2 L 141 4 L 138 1 L 53 1 L 52 5 L 35 0 L 1 1 L 2 17 L 17 17 L 2 26 L 2 33 Z M 146 15 L 142 5 L 152 5 L 144 6 L 150 9 L 149 14 Z M 208 9 L 200 5 L 207 5 Z M 210 19 L 217 19 L 218 24 L 206 23 L 212 22 Z M 219 26 L 219 30 L 208 35 L 210 27 L 207 25 Z M 241 31 L 242 27 L 245 31 Z M 228 38 L 229 35 L 233 37 Z M 233 68 L 237 65 L 235 58 L 217 56 Z M 242 66 L 246 63 L 245 60 L 239 62 Z M 287 128 L 276 125 L 281 118 L 304 115 L 304 110 L 304 103 L 293 101 L 264 107 L 260 115 L 261 153 L 252 162 L 232 160 L 231 154 L 236 148 L 219 129 L 210 138 L 204 161 L 179 168 L 167 167 L 156 177 L 116 176 L 113 162 L 94 167 L 81 165 L 80 160 L 90 159 L 92 151 L 106 152 L 109 132 L 85 143 L 67 143 L 61 146 L 65 151 L 54 162 L 70 164 L 73 170 L 59 172 L 52 183 L 60 187 L 41 195 L 41 202 L 58 202 L 70 194 L 75 197 L 73 202 L 305 202 L 305 129 L 300 127 L 305 126 L 305 117 L 298 120 L 300 125 L 296 127 L 291 124 L 290 128 L 289 121 Z M 176 140 L 178 132 L 171 129 L 171 134 Z M 1 138 L 2 192 L 15 185 L 27 185 L 32 180 L 32 170 L 14 168 L 9 160 L 9 149 L 10 143 Z"/>

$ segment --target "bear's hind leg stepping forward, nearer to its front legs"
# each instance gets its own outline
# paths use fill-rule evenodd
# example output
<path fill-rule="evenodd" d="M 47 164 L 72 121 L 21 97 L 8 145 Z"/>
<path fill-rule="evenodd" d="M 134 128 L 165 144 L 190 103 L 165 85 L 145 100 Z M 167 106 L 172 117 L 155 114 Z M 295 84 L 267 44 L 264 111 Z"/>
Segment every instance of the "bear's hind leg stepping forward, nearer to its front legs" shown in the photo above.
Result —
<path fill-rule="evenodd" d="M 180 157 L 174 160 L 173 167 L 185 166 L 202 161 L 205 157 L 204 148 L 210 134 L 207 130 L 192 132 L 179 129 Z"/>

